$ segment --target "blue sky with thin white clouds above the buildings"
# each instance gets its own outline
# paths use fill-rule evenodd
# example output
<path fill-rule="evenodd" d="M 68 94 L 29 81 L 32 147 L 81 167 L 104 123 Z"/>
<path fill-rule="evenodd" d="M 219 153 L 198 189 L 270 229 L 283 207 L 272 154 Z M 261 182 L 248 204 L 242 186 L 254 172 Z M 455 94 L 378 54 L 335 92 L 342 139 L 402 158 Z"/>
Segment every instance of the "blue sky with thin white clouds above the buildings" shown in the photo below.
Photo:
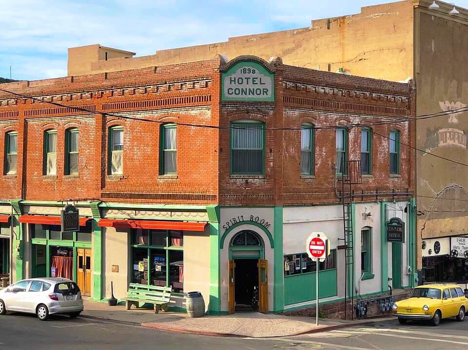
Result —
<path fill-rule="evenodd" d="M 0 77 L 66 76 L 67 48 L 156 50 L 301 28 L 394 0 L 0 0 Z M 267 4 L 267 6 L 265 6 Z M 468 0 L 458 6 L 468 8 Z"/>

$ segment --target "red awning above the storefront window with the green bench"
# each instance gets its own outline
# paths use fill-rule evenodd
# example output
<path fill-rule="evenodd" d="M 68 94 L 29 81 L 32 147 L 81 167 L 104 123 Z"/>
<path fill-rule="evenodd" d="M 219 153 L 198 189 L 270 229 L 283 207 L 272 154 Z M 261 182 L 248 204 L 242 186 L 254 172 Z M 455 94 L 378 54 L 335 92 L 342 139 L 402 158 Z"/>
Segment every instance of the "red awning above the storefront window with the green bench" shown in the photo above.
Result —
<path fill-rule="evenodd" d="M 206 222 L 101 219 L 98 226 L 116 228 L 145 228 L 151 230 L 183 230 L 203 232 Z"/>

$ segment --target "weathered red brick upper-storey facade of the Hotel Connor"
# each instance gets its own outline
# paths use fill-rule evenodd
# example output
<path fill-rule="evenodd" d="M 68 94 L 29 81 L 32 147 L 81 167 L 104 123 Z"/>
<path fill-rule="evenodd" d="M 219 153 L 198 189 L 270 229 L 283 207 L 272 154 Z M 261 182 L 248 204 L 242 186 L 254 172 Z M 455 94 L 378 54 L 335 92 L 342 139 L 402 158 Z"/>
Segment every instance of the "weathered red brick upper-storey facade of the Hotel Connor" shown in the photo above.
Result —
<path fill-rule="evenodd" d="M 284 65 L 279 58 L 264 63 L 276 72 L 276 102 L 220 102 L 220 71 L 225 65 L 221 56 L 162 67 L 2 84 L 1 89 L 43 101 L 0 92 L 0 145 L 5 145 L 5 132 L 18 132 L 17 175 L 0 178 L 2 197 L 226 205 L 337 202 L 334 129 L 316 131 L 315 176 L 301 178 L 299 129 L 266 130 L 265 175 L 233 176 L 228 170 L 230 131 L 217 127 L 251 119 L 264 122 L 267 129 L 299 128 L 304 123 L 320 128 L 373 123 L 381 118 L 401 121 L 414 115 L 411 82 L 314 71 Z M 176 176 L 160 175 L 162 123 L 189 124 L 178 127 Z M 124 128 L 122 175 L 108 175 L 107 171 L 108 128 L 115 125 Z M 79 175 L 64 175 L 64 135 L 69 128 L 80 130 Z M 375 132 L 388 135 L 390 129 L 398 129 L 402 143 L 414 144 L 412 128 L 412 123 L 399 122 L 375 126 Z M 57 176 L 45 176 L 42 171 L 47 129 L 58 131 Z M 357 194 L 361 189 L 366 194 L 412 191 L 414 155 L 409 148 L 401 147 L 401 175 L 393 177 L 388 171 L 388 139 L 375 134 L 372 153 L 373 174 L 365 178 L 362 187 L 356 187 Z M 349 131 L 349 159 L 360 159 L 360 128 Z"/>

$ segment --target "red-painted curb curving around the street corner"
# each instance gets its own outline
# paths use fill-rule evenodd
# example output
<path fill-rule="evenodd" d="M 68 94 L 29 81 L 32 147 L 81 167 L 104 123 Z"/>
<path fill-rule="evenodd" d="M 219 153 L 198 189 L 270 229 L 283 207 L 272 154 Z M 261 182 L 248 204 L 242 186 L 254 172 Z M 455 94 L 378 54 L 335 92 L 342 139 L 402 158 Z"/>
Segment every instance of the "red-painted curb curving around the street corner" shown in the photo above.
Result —
<path fill-rule="evenodd" d="M 390 319 L 390 318 L 388 318 Z M 160 331 L 167 331 L 167 332 L 175 332 L 175 333 L 185 333 L 185 334 L 194 334 L 194 335 L 204 335 L 204 336 L 214 336 L 214 337 L 231 337 L 231 338 L 279 338 L 279 337 L 288 337 L 288 336 L 295 336 L 295 335 L 302 335 L 302 334 L 312 334 L 312 333 L 321 333 L 321 332 L 329 332 L 334 330 L 339 330 L 343 328 L 351 328 L 356 326 L 363 326 L 367 324 L 382 322 L 384 320 L 367 320 L 358 323 L 345 323 L 339 325 L 332 325 L 332 326 L 324 326 L 320 328 L 310 328 L 305 331 L 295 332 L 291 334 L 281 334 L 281 335 L 267 335 L 267 336 L 248 336 L 243 334 L 232 334 L 232 333 L 221 333 L 221 332 L 206 332 L 206 331 L 195 331 L 195 330 L 187 330 L 184 328 L 177 328 L 177 327 L 170 327 L 164 326 L 158 323 L 142 323 L 141 326 L 145 328 L 152 328 Z"/>

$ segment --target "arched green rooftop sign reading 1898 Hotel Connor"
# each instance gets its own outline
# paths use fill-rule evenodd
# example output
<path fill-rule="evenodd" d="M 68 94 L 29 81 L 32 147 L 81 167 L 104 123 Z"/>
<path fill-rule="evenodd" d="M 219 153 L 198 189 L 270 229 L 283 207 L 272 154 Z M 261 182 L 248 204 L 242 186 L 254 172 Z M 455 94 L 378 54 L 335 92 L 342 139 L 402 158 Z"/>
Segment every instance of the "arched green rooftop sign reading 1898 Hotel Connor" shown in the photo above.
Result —
<path fill-rule="evenodd" d="M 275 74 L 258 62 L 239 62 L 221 74 L 222 101 L 274 101 Z"/>

